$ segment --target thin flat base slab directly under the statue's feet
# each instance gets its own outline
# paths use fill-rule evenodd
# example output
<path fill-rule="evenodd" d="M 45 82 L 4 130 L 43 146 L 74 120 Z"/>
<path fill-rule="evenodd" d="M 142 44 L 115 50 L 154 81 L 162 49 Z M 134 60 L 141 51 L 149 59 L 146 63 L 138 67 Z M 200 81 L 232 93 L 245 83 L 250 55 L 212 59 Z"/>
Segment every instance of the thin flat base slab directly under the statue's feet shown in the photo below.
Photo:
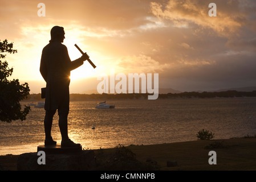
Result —
<path fill-rule="evenodd" d="M 82 146 L 78 147 L 62 147 L 60 144 L 52 146 L 38 146 L 37 151 L 44 151 L 48 154 L 67 154 L 71 152 L 80 152 L 82 151 Z"/>

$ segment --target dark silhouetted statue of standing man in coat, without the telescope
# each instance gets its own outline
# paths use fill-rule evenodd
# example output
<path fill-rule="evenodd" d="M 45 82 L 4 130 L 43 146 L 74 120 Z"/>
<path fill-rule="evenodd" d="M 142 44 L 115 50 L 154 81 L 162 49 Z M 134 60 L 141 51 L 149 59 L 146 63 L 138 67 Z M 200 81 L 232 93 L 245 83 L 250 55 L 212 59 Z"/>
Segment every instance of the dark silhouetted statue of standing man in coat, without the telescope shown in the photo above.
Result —
<path fill-rule="evenodd" d="M 64 28 L 55 26 L 51 29 L 51 40 L 46 47 L 43 48 L 40 62 L 40 73 L 46 81 L 46 96 L 44 109 L 46 114 L 44 117 L 44 144 L 54 145 L 56 142 L 51 137 L 52 118 L 58 110 L 59 128 L 62 135 L 62 147 L 77 147 L 80 144 L 72 142 L 68 138 L 67 117 L 70 105 L 70 71 L 80 67 L 83 61 L 89 59 L 84 53 L 82 57 L 74 61 L 68 56 L 67 47 L 64 46 L 63 40 Z"/>

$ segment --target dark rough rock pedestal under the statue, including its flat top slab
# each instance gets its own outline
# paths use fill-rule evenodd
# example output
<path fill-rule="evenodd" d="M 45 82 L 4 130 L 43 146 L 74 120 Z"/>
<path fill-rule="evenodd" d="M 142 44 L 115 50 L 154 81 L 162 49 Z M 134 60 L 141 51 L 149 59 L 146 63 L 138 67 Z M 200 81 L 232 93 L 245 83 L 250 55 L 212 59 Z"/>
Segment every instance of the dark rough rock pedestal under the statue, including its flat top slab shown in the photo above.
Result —
<path fill-rule="evenodd" d="M 19 155 L 17 169 L 21 171 L 81 171 L 94 170 L 96 159 L 94 151 L 61 146 L 38 146 L 38 151 L 45 152 L 46 164 L 38 164 L 38 152 Z"/>

